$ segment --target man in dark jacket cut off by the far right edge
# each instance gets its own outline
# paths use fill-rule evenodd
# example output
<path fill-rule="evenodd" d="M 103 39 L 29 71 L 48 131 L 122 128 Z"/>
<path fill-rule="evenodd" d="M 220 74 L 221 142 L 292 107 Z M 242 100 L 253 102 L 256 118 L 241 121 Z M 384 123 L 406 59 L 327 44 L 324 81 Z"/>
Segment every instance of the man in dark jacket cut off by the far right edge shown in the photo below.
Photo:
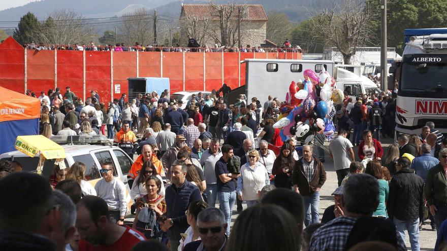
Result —
<path fill-rule="evenodd" d="M 442 222 L 447 219 L 447 188 L 445 177 L 447 173 L 447 148 L 439 150 L 439 164 L 432 167 L 427 174 L 424 196 L 430 206 L 430 213 L 435 218 L 436 229 L 439 231 Z"/>

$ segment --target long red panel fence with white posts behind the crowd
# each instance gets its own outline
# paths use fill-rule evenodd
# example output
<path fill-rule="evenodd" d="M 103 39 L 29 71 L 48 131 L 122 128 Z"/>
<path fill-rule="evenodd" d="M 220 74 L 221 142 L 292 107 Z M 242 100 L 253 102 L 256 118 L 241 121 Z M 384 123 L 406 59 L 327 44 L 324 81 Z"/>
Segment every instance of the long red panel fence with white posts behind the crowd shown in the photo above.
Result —
<path fill-rule="evenodd" d="M 0 44 L 0 86 L 24 93 L 66 86 L 85 100 L 98 91 L 101 102 L 127 93 L 127 78 L 169 78 L 171 93 L 211 91 L 223 83 L 245 85 L 246 58 L 301 59 L 300 52 L 112 52 L 27 50 L 14 39 Z M 119 91 L 115 87 L 119 86 Z"/>

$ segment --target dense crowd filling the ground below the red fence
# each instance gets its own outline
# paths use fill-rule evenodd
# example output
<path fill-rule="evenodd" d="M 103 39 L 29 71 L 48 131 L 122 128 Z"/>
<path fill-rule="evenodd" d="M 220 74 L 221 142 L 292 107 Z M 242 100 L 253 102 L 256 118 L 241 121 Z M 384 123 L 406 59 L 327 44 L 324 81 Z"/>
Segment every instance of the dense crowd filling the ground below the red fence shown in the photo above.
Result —
<path fill-rule="evenodd" d="M 135 159 L 127 174 L 132 201 L 112 163 L 101 163 L 92 186 L 81 162 L 55 166 L 50 177 L 0 162 L 0 196 L 8 201 L 0 205 L 0 249 L 406 250 L 407 231 L 411 249 L 420 250 L 427 218 L 438 231 L 435 249 L 443 248 L 447 139 L 428 122 L 384 151 L 380 138 L 394 136 L 395 94 L 354 102 L 346 95 L 335 138 L 310 146 L 281 140 L 273 127 L 278 98 L 261 103 L 242 94 L 229 103 L 229 91 L 194 94 L 185 109 L 169 90 L 132 100 L 123 93 L 107 105 L 94 90 L 85 102 L 70 87 L 41 92 L 43 135 L 104 134 Z M 325 150 L 338 188 L 320 217 Z M 125 224 L 129 208 L 134 220 Z"/>

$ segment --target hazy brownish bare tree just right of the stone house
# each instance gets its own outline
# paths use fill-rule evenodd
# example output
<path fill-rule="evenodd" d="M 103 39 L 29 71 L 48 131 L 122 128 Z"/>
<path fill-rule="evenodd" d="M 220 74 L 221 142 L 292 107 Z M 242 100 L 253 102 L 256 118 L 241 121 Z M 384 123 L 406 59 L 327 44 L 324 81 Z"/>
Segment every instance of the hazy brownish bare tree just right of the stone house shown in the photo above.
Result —
<path fill-rule="evenodd" d="M 289 17 L 284 13 L 271 11 L 267 13 L 267 39 L 280 45 L 288 39 L 293 26 Z"/>

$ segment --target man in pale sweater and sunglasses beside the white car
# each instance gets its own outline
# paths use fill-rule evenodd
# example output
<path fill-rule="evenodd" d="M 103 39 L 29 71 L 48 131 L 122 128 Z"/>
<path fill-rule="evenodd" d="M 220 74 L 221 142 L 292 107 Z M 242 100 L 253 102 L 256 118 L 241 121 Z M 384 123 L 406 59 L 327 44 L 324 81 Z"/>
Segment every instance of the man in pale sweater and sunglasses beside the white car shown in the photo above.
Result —
<path fill-rule="evenodd" d="M 118 225 L 124 225 L 124 216 L 127 210 L 124 183 L 119 178 L 115 178 L 111 162 L 104 163 L 100 173 L 103 178 L 94 186 L 94 190 L 99 197 L 106 201 L 111 221 Z"/>

